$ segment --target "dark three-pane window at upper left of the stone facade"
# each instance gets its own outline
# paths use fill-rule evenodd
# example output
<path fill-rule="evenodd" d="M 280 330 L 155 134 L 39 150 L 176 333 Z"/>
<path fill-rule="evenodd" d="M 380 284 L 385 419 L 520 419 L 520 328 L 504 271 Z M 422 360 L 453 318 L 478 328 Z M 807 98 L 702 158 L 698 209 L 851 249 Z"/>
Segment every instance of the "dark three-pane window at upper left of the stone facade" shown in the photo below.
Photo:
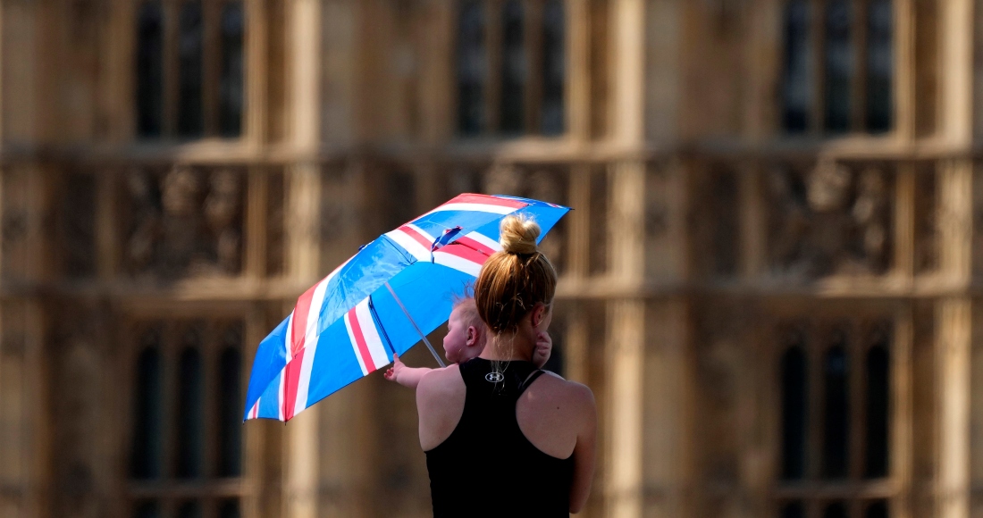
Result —
<path fill-rule="evenodd" d="M 245 104 L 242 0 L 147 0 L 136 24 L 137 136 L 239 137 Z"/>

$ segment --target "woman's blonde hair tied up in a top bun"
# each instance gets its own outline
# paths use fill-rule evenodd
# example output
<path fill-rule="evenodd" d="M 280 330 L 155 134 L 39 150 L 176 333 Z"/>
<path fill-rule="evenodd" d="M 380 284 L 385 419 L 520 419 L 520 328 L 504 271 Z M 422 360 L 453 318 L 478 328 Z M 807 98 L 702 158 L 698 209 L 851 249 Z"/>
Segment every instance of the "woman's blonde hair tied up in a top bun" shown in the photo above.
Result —
<path fill-rule="evenodd" d="M 478 315 L 496 335 L 515 331 L 537 304 L 549 306 L 556 293 L 556 269 L 536 246 L 540 226 L 509 215 L 499 231 L 502 250 L 485 261 L 475 283 Z"/>

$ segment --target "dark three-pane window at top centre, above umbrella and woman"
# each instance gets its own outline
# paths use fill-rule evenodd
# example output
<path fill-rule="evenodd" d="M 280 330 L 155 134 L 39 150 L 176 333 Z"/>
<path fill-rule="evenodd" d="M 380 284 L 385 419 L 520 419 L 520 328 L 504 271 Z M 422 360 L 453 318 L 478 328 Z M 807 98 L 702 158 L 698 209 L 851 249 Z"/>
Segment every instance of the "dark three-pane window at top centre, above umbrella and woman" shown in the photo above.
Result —
<path fill-rule="evenodd" d="M 565 16 L 562 0 L 458 4 L 460 135 L 563 133 Z"/>

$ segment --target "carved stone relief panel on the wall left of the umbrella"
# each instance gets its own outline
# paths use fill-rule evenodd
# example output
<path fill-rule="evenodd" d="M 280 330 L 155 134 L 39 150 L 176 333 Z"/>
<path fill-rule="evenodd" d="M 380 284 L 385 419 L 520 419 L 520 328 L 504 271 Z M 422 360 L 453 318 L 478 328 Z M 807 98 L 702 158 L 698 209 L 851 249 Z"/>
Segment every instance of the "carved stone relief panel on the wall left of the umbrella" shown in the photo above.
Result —
<path fill-rule="evenodd" d="M 231 169 L 130 172 L 125 269 L 160 278 L 238 273 L 244 191 L 243 174 Z"/>

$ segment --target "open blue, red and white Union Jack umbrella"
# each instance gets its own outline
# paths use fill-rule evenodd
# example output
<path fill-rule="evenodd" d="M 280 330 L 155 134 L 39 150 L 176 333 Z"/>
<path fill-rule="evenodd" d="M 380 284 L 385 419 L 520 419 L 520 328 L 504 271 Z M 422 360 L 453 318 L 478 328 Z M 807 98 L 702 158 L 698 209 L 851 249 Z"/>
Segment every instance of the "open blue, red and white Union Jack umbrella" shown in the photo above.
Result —
<path fill-rule="evenodd" d="M 526 215 L 539 223 L 542 240 L 568 210 L 545 201 L 464 194 L 379 236 L 301 295 L 260 342 L 245 419 L 289 421 L 389 365 L 393 354 L 426 341 L 450 315 L 453 295 L 501 250 L 502 218 Z M 433 347 L 431 352 L 439 362 Z"/>

